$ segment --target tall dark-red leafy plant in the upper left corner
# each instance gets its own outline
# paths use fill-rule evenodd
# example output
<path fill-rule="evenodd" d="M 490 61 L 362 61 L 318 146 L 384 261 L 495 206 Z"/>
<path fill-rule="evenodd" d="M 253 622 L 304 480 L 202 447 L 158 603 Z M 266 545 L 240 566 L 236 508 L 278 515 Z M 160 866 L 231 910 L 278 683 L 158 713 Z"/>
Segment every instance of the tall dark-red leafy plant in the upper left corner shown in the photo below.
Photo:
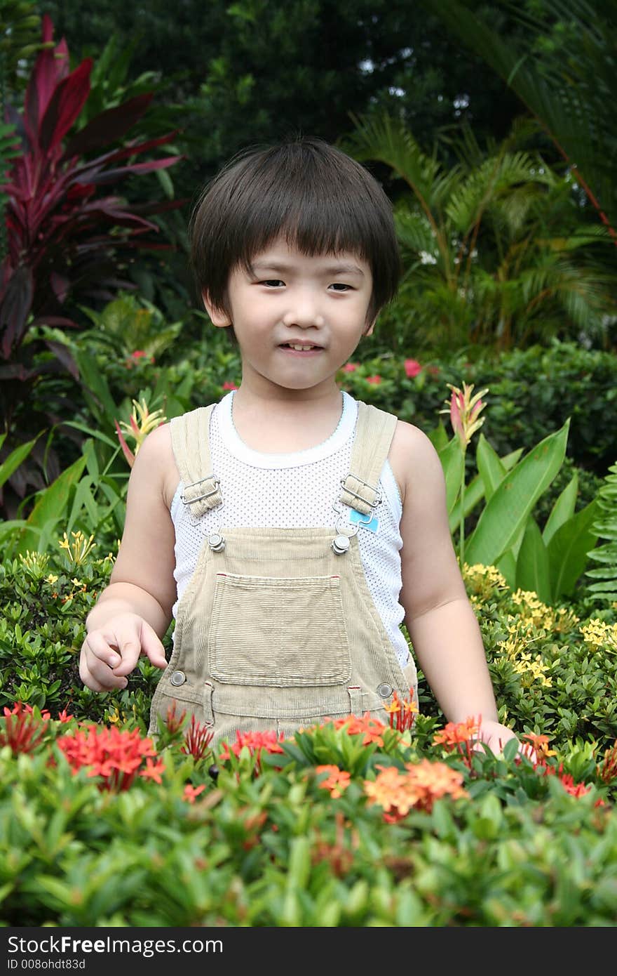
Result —
<path fill-rule="evenodd" d="M 45 15 L 42 41 L 53 45 L 53 35 L 54 25 Z M 41 343 L 24 346 L 28 332 L 43 324 L 74 327 L 71 305 L 109 301 L 119 288 L 132 288 L 122 278 L 122 251 L 168 247 L 154 240 L 152 232 L 159 228 L 148 217 L 183 202 L 130 207 L 120 196 L 101 192 L 101 187 L 120 183 L 129 175 L 166 169 L 181 157 L 138 158 L 170 142 L 174 132 L 123 144 L 148 108 L 151 92 L 99 113 L 71 135 L 90 94 L 91 70 L 92 61 L 85 59 L 71 71 L 66 42 L 60 40 L 56 47 L 38 54 L 21 111 L 12 108 L 8 112 L 9 121 L 17 127 L 20 151 L 9 160 L 5 172 L 0 170 L 0 182 L 4 181 L 0 196 L 8 198 L 7 250 L 0 256 L 0 362 L 4 362 L 0 366 L 0 413 L 4 429 L 11 430 L 17 406 L 29 396 L 30 386 L 41 373 L 68 369 L 77 377 L 77 367 L 61 343 L 45 343 L 56 358 L 44 364 L 35 360 Z M 101 149 L 102 154 L 92 158 Z M 36 420 L 33 430 L 42 426 Z M 20 431 L 20 436 L 27 433 Z M 16 446 L 11 439 L 3 445 L 3 455 Z M 26 468 L 10 479 L 19 497 L 25 494 Z M 30 476 L 28 483 L 43 487 L 39 480 Z"/>

